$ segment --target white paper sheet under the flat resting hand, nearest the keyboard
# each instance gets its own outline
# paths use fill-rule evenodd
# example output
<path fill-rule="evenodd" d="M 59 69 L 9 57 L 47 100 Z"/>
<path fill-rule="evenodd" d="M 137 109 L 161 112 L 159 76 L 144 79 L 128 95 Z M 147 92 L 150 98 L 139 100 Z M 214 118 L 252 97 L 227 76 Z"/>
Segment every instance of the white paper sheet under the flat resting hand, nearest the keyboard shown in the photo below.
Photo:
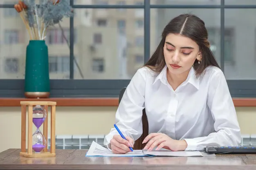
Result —
<path fill-rule="evenodd" d="M 167 149 L 162 150 L 143 150 L 145 155 L 154 155 L 154 156 L 166 156 L 166 157 L 202 157 L 202 153 L 200 151 L 171 151 Z"/>

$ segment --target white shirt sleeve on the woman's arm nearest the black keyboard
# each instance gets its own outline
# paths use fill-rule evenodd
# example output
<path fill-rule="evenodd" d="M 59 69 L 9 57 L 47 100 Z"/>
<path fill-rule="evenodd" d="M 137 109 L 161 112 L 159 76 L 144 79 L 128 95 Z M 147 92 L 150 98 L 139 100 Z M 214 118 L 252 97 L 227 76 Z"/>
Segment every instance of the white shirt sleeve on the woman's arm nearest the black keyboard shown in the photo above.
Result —
<path fill-rule="evenodd" d="M 188 144 L 186 150 L 201 151 L 206 146 L 240 145 L 240 127 L 223 72 L 214 72 L 209 83 L 207 105 L 214 120 L 215 132 L 206 137 L 184 139 Z"/>

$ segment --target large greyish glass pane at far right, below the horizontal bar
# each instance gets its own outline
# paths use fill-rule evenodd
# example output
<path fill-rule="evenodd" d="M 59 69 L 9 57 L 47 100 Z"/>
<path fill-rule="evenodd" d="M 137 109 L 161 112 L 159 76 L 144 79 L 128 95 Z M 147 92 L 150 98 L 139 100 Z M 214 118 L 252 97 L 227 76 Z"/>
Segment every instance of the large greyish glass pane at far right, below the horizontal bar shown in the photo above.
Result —
<path fill-rule="evenodd" d="M 255 15 L 256 9 L 225 9 L 227 79 L 256 79 Z"/>

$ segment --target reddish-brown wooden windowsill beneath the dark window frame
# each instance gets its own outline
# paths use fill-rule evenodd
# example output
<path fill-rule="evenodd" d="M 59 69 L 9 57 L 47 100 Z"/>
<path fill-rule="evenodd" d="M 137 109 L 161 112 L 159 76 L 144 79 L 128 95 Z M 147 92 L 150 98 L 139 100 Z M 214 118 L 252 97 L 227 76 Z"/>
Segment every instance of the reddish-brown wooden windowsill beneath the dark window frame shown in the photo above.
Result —
<path fill-rule="evenodd" d="M 118 106 L 118 98 L 0 98 L 0 106 L 20 106 L 20 101 L 51 101 L 57 106 Z M 236 107 L 254 107 L 256 98 L 233 98 Z"/>

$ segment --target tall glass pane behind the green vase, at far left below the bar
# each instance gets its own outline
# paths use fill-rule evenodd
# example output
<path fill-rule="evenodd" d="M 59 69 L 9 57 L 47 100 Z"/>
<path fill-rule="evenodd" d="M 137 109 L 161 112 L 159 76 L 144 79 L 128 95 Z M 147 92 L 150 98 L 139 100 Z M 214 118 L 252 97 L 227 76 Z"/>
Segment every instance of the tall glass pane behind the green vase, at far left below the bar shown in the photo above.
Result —
<path fill-rule="evenodd" d="M 46 32 L 51 79 L 66 79 L 70 75 L 69 60 L 57 59 L 70 56 L 70 19 L 63 18 L 61 26 L 63 29 L 56 24 Z M 24 79 L 29 34 L 20 15 L 13 8 L 0 8 L 0 42 L 0 79 Z M 56 57 L 56 60 L 52 57 Z"/>

